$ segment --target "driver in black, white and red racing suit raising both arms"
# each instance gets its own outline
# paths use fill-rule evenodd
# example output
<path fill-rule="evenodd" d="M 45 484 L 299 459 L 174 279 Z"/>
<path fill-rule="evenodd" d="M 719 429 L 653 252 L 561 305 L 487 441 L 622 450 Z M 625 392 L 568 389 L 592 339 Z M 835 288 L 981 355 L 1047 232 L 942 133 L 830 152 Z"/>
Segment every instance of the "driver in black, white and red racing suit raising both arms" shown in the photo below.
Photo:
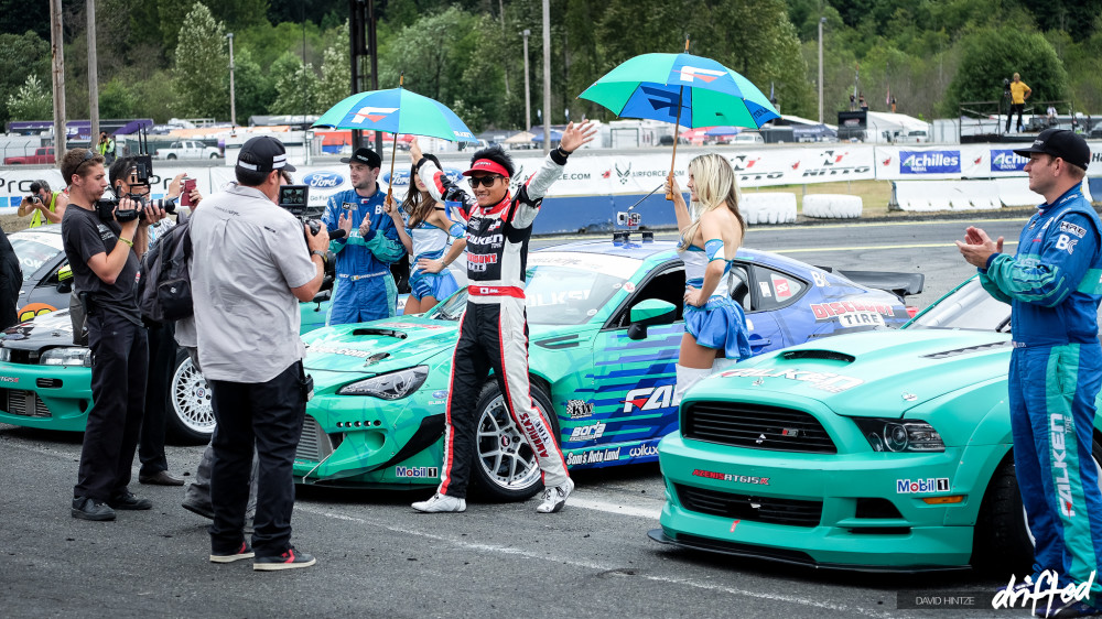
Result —
<path fill-rule="evenodd" d="M 509 195 L 512 160 L 501 146 L 490 146 L 474 154 L 471 177 L 476 203 L 467 200 L 467 310 L 460 324 L 460 339 L 452 357 L 452 379 L 447 391 L 447 425 L 444 433 L 444 467 L 440 488 L 428 501 L 413 503 L 422 512 L 464 511 L 467 481 L 475 457 L 475 431 L 478 412 L 475 403 L 490 369 L 505 404 L 543 473 L 540 513 L 562 509 L 574 482 L 566 474 L 562 449 L 551 435 L 551 425 L 532 404 L 528 378 L 528 321 L 525 314 L 525 271 L 532 221 L 539 215 L 543 196 L 562 175 L 566 158 L 591 141 L 596 129 L 586 123 L 570 123 L 560 145 L 548 155 L 543 166 L 518 191 Z M 417 149 L 417 150 L 414 150 Z M 432 197 L 454 195 L 444 174 L 432 161 L 423 159 L 420 148 L 410 149 Z M 554 414 L 553 411 L 544 411 Z"/>

